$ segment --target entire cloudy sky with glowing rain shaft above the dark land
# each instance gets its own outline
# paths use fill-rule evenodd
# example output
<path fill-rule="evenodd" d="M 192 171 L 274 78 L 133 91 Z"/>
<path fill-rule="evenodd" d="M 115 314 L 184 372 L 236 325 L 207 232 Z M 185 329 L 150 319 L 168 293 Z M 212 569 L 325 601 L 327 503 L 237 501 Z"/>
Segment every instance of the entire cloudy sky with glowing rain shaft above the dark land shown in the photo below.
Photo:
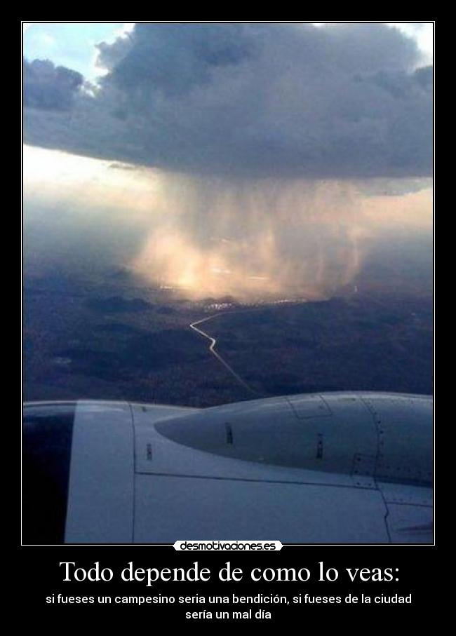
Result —
<path fill-rule="evenodd" d="M 24 54 L 43 255 L 318 298 L 385 233 L 431 231 L 429 23 L 30 23 Z"/>

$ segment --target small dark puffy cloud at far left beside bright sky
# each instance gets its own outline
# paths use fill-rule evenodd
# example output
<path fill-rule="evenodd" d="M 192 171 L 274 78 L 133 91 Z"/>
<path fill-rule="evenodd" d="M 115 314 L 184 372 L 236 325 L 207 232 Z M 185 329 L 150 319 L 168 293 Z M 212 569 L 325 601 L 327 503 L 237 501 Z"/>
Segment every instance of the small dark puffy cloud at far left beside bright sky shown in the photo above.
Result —
<path fill-rule="evenodd" d="M 46 110 L 67 110 L 83 76 L 72 69 L 55 67 L 50 60 L 24 61 L 24 104 Z"/>

